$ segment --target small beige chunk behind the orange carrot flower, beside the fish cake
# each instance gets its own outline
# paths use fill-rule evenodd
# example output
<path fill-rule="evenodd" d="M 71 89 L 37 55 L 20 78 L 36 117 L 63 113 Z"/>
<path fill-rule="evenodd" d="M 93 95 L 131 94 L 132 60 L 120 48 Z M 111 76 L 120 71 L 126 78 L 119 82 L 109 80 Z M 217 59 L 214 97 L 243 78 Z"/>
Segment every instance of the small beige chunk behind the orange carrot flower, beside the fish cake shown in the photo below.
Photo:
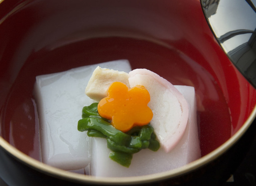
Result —
<path fill-rule="evenodd" d="M 85 94 L 99 102 L 101 99 L 108 96 L 108 88 L 113 82 L 122 82 L 129 88 L 130 84 L 128 78 L 129 75 L 126 72 L 97 66 L 85 88 Z"/>

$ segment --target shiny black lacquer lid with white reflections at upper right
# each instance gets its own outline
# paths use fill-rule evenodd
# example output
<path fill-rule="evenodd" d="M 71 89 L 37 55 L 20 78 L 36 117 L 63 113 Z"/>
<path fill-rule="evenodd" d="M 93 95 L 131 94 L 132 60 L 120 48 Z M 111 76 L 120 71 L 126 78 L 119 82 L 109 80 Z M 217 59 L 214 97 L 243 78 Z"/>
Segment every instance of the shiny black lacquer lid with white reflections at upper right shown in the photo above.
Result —
<path fill-rule="evenodd" d="M 201 0 L 201 3 L 223 50 L 256 87 L 256 1 Z"/>

